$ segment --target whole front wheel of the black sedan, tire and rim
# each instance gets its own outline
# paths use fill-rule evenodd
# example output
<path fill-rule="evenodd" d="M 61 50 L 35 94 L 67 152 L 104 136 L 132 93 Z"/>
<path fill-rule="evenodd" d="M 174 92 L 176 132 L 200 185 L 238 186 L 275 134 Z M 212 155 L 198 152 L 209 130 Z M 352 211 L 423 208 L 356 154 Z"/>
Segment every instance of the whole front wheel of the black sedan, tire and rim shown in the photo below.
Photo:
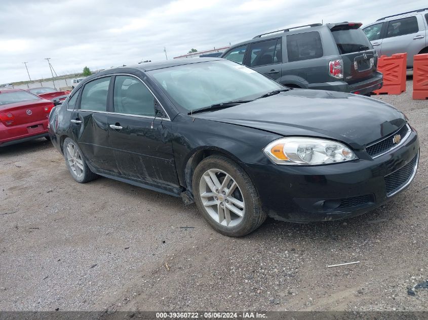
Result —
<path fill-rule="evenodd" d="M 198 209 L 223 235 L 245 236 L 266 219 L 250 177 L 237 163 L 224 156 L 214 155 L 202 160 L 194 171 L 192 185 Z"/>

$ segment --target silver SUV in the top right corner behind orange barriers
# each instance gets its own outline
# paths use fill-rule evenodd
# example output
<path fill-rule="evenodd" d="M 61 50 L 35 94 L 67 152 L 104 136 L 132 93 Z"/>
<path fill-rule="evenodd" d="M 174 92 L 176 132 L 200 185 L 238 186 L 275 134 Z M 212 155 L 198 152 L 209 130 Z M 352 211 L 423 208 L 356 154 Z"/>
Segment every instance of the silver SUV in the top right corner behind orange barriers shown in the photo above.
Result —
<path fill-rule="evenodd" d="M 381 55 L 407 53 L 407 68 L 413 68 L 413 56 L 428 53 L 428 8 L 387 16 L 363 28 Z"/>

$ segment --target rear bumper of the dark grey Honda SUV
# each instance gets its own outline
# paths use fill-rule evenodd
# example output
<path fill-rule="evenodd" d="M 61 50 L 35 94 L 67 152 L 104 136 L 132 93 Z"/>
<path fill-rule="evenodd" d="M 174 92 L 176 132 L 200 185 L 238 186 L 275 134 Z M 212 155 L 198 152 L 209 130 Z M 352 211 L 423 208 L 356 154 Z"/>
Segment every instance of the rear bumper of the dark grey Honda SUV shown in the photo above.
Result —
<path fill-rule="evenodd" d="M 370 79 L 348 84 L 345 81 L 332 81 L 322 83 L 309 83 L 308 89 L 330 90 L 347 92 L 351 94 L 367 95 L 374 90 L 380 89 L 383 85 L 383 76 L 380 72 L 375 72 Z"/>

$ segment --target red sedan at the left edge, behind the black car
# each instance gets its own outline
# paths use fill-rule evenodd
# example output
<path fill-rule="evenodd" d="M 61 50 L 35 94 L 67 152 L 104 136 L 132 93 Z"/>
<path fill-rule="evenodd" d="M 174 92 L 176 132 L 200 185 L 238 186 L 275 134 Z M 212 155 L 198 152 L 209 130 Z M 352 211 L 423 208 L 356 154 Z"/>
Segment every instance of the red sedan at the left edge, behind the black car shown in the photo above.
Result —
<path fill-rule="evenodd" d="M 48 137 L 54 103 L 21 89 L 0 89 L 0 147 Z"/>

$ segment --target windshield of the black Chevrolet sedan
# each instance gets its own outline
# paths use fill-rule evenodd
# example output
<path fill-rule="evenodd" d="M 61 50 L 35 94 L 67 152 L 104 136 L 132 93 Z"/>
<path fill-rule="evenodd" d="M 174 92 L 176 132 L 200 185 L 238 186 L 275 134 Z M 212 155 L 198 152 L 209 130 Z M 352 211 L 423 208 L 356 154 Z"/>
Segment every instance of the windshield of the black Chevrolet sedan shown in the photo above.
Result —
<path fill-rule="evenodd" d="M 284 87 L 228 60 L 191 63 L 148 71 L 174 104 L 190 111 L 211 105 L 253 100 Z"/>

